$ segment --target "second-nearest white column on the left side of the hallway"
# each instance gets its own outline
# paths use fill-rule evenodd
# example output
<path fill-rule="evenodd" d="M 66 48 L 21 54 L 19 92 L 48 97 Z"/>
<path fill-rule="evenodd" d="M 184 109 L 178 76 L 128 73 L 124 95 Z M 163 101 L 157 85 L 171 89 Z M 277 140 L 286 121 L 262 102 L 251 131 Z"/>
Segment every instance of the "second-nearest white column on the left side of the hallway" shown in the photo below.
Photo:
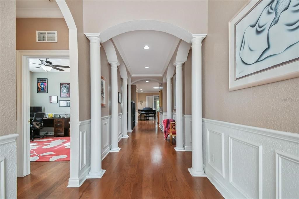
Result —
<path fill-rule="evenodd" d="M 118 152 L 118 83 L 117 66 L 118 63 L 111 65 L 111 149 L 110 152 Z"/>

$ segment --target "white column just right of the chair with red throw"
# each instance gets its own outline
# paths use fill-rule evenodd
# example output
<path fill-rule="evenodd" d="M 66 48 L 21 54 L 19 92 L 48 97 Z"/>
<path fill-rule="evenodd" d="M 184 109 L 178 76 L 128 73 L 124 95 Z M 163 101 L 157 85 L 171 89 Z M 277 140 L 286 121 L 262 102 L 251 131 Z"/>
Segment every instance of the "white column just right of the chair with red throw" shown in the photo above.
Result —
<path fill-rule="evenodd" d="M 183 93 L 182 93 L 182 65 L 176 62 L 176 151 L 184 151 L 183 148 Z"/>

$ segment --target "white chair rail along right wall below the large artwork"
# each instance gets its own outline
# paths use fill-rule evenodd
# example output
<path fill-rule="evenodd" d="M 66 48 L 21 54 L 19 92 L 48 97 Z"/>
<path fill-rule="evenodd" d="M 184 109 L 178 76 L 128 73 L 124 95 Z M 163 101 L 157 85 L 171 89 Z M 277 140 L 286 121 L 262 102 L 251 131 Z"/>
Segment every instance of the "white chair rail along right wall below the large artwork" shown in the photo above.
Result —
<path fill-rule="evenodd" d="M 299 134 L 202 118 L 203 122 L 299 143 Z"/>

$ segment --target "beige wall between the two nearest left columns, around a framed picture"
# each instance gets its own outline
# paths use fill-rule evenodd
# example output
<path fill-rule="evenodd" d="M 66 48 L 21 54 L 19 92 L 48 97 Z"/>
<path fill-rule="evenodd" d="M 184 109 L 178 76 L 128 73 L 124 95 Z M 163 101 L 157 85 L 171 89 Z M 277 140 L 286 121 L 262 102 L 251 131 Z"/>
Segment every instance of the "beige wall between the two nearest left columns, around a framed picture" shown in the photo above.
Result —
<path fill-rule="evenodd" d="M 102 117 L 111 115 L 111 65 L 103 46 L 101 47 L 101 75 L 106 79 L 106 107 L 102 106 Z"/>

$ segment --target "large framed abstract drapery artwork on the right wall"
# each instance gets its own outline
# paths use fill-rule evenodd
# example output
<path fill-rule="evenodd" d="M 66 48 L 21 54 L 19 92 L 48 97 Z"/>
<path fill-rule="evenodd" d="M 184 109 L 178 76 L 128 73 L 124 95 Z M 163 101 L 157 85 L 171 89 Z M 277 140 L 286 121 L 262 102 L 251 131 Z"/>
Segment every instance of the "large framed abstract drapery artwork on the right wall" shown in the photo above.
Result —
<path fill-rule="evenodd" d="M 229 90 L 299 76 L 299 1 L 251 0 L 229 22 Z"/>

